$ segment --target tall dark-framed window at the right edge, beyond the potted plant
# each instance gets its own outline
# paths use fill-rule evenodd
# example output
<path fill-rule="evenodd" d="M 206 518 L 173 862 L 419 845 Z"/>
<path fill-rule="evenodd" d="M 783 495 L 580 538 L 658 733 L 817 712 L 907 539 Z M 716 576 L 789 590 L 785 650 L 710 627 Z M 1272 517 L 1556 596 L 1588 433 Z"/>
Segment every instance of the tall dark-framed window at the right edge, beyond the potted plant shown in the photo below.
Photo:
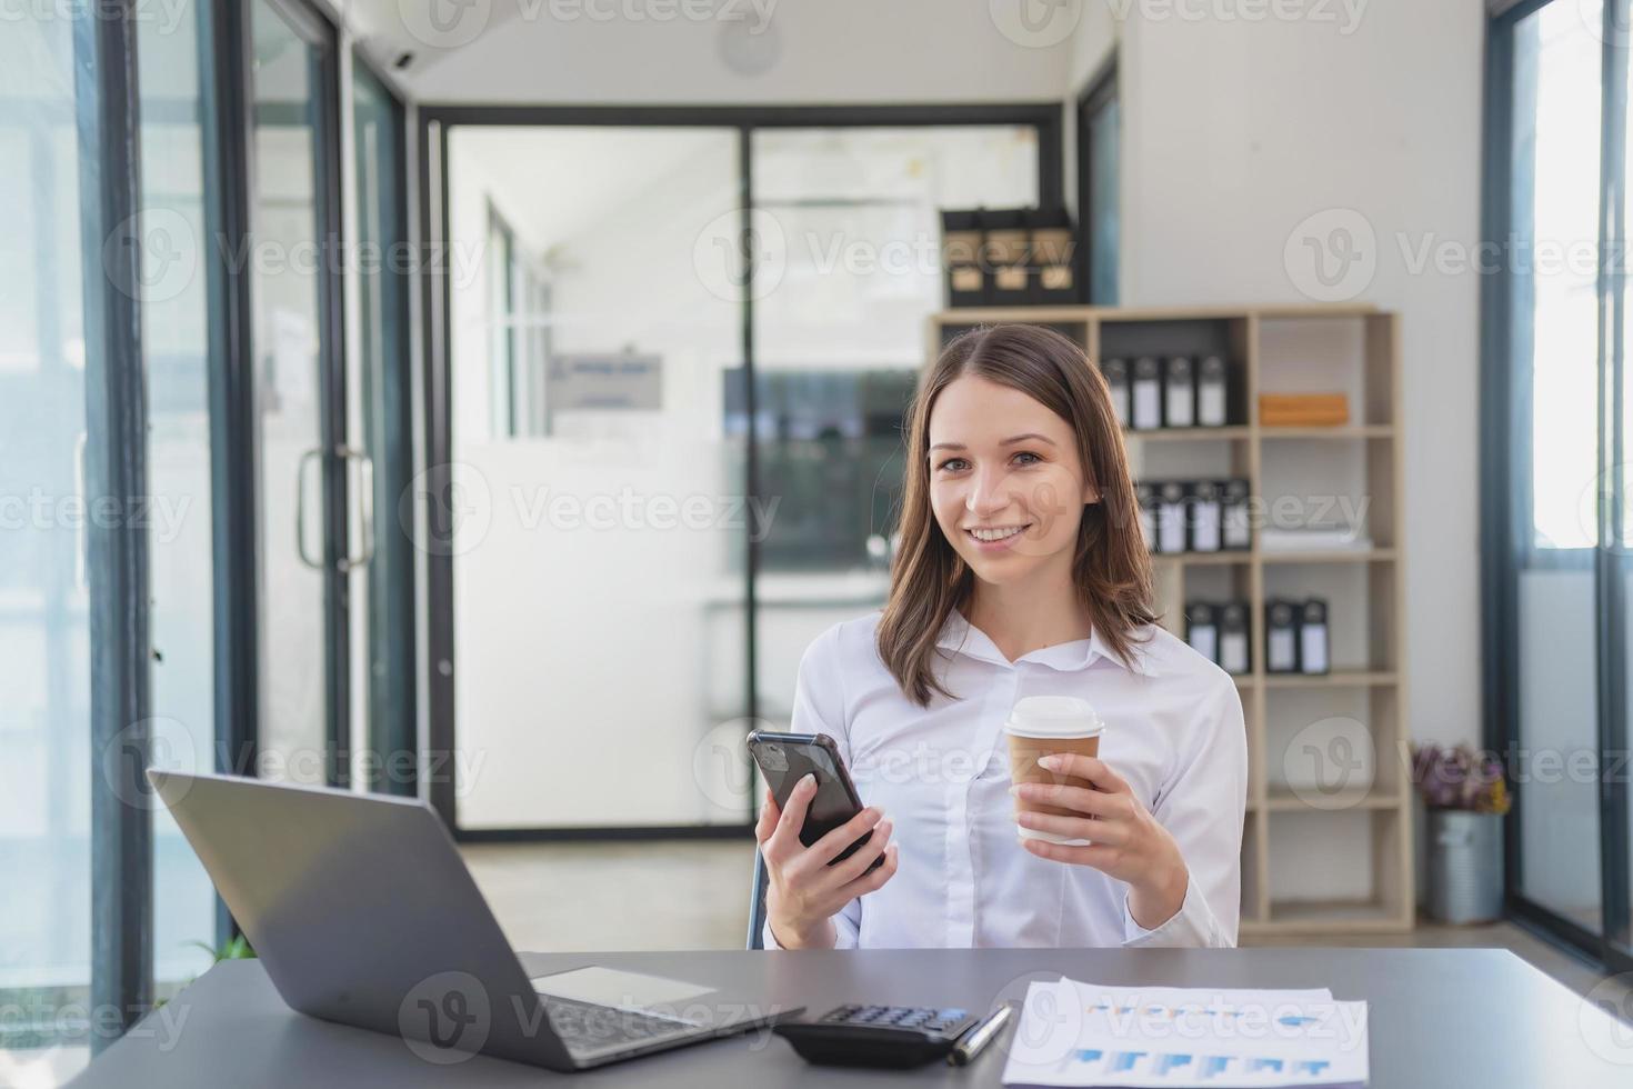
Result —
<path fill-rule="evenodd" d="M 1626 967 L 1628 64 L 1615 28 L 1628 0 L 1610 3 L 1522 3 L 1493 23 L 1486 687 L 1515 784 L 1515 909 Z"/>

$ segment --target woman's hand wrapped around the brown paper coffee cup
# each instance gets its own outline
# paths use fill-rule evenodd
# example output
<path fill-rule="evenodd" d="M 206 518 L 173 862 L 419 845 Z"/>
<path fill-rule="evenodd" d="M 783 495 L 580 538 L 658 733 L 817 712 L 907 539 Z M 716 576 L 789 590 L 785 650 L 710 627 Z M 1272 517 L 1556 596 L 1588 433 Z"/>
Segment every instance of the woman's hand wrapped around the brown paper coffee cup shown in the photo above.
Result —
<path fill-rule="evenodd" d="M 1128 913 L 1148 931 L 1168 922 L 1186 901 L 1190 872 L 1179 844 L 1156 823 L 1128 784 L 1092 756 L 1057 753 L 1040 766 L 1065 776 L 1088 779 L 1096 789 L 1047 782 L 1022 782 L 1014 792 L 1030 803 L 1073 810 L 1083 816 L 1017 813 L 1022 828 L 1055 833 L 1066 839 L 1088 839 L 1075 847 L 1047 839 L 1022 839 L 1027 851 L 1057 862 L 1092 865 L 1128 885 Z"/>

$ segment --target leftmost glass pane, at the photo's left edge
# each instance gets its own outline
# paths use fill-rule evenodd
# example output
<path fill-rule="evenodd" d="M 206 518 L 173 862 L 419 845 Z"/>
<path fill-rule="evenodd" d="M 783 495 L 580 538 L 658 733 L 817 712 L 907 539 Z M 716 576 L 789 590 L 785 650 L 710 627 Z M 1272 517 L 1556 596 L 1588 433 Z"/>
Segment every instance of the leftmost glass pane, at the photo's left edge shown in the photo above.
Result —
<path fill-rule="evenodd" d="M 31 10 L 33 11 L 33 10 Z M 73 23 L 0 34 L 0 1081 L 83 1056 L 90 988 L 85 330 Z M 65 1043 L 69 1058 L 42 1048 Z M 26 1051 L 26 1053 L 24 1053 Z"/>

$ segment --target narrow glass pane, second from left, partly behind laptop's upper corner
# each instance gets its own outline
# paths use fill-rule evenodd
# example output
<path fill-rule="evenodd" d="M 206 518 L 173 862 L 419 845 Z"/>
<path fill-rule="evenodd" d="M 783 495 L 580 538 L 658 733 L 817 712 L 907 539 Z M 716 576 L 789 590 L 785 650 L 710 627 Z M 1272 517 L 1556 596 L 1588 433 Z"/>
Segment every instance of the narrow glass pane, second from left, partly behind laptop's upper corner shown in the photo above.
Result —
<path fill-rule="evenodd" d="M 142 144 L 142 348 L 152 490 L 152 762 L 216 771 L 209 294 L 202 10 L 137 20 Z M 154 976 L 202 973 L 216 890 L 170 811 L 154 807 Z"/>

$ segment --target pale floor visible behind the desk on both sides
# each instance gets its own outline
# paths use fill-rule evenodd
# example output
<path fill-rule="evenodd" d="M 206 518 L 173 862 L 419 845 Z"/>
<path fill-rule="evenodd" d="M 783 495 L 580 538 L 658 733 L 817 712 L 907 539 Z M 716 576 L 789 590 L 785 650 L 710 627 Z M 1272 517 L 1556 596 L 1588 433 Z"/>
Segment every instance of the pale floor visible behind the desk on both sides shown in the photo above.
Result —
<path fill-rule="evenodd" d="M 470 844 L 464 854 L 516 949 L 743 947 L 754 867 L 748 842 Z M 1251 944 L 1497 947 L 1579 994 L 1604 981 L 1591 965 L 1512 922 L 1424 924 L 1409 934 L 1261 937 Z M 1620 1006 L 1633 1009 L 1633 999 Z"/>

